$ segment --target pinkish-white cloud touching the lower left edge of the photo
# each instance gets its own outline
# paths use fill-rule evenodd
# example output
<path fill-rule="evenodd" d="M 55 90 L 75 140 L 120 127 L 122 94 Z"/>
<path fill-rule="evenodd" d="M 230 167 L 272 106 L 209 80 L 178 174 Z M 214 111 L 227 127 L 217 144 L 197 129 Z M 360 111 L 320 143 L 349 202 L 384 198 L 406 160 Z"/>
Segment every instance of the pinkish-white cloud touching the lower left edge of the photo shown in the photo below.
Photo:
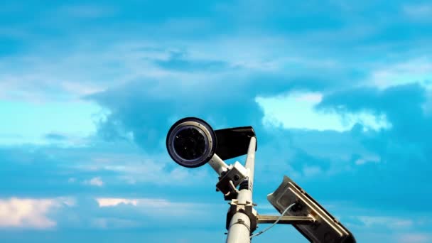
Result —
<path fill-rule="evenodd" d="M 48 217 L 55 207 L 73 206 L 72 198 L 10 198 L 0 199 L 0 227 L 46 229 L 57 224 Z"/>

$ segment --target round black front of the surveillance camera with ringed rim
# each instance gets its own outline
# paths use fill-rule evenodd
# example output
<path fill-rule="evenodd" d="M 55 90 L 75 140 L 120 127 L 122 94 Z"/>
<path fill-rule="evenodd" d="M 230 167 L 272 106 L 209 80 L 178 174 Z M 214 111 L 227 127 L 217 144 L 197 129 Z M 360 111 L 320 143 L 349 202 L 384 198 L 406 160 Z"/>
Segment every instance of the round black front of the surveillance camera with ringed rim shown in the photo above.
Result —
<path fill-rule="evenodd" d="M 215 131 L 207 122 L 196 117 L 175 122 L 166 136 L 166 148 L 173 161 L 188 168 L 210 161 L 216 147 Z"/>

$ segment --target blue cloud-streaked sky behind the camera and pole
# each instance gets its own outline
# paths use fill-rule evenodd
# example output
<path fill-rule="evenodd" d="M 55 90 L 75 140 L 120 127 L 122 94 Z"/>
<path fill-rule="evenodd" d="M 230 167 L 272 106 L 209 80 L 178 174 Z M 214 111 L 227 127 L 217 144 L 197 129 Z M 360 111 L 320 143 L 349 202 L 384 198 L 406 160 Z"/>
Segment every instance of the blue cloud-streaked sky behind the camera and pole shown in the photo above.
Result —
<path fill-rule="evenodd" d="M 358 242 L 432 242 L 430 2 L 1 6 L 0 242 L 223 242 L 216 174 L 164 147 L 188 116 L 254 126 L 261 214 L 288 175 Z"/>

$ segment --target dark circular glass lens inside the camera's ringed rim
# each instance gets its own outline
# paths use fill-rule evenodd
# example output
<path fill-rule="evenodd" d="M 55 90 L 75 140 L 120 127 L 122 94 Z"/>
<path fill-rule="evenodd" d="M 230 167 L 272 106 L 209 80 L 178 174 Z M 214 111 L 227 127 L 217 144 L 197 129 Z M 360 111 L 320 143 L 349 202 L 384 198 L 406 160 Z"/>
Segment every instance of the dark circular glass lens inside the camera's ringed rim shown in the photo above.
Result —
<path fill-rule="evenodd" d="M 185 161 L 194 161 L 204 155 L 207 139 L 200 129 L 186 126 L 175 134 L 173 146 L 178 156 Z"/>

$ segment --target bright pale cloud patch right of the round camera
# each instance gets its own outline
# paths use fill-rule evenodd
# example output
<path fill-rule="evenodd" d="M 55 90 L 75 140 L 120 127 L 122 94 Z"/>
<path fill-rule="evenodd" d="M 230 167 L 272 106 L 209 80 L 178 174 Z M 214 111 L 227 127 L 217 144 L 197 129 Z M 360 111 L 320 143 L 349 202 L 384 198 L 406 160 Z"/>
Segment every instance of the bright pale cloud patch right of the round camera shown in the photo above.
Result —
<path fill-rule="evenodd" d="M 286 129 L 313 129 L 318 131 L 347 131 L 356 123 L 365 129 L 387 129 L 391 125 L 382 117 L 365 112 L 344 114 L 318 112 L 314 109 L 323 95 L 318 92 L 291 92 L 276 97 L 257 97 L 255 100 L 264 110 L 265 126 L 281 126 Z"/>

